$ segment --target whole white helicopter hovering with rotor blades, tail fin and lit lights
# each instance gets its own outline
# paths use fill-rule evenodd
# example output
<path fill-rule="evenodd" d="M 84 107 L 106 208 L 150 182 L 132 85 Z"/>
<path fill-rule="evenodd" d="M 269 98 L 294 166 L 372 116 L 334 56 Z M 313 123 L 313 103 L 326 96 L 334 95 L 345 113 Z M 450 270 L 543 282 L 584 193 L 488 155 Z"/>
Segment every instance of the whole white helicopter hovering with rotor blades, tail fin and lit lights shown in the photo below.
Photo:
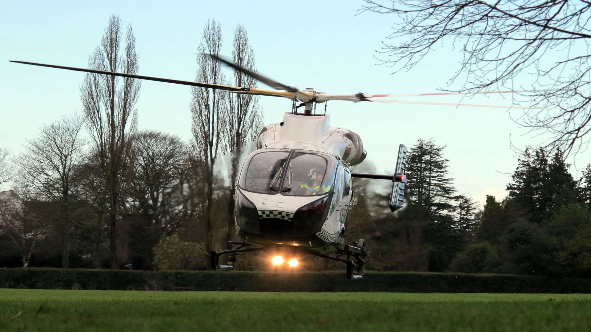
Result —
<path fill-rule="evenodd" d="M 235 267 L 237 256 L 247 252 L 265 252 L 273 265 L 286 263 L 296 268 L 308 255 L 343 262 L 346 277 L 361 279 L 365 274 L 368 245 L 364 239 L 345 244 L 349 212 L 352 209 L 352 178 L 391 181 L 389 208 L 392 212 L 405 207 L 407 148 L 398 147 L 394 174 L 365 174 L 353 172 L 367 156 L 361 137 L 345 128 L 330 126 L 326 114 L 329 100 L 350 102 L 382 102 L 444 106 L 476 106 L 488 108 L 521 108 L 519 106 L 469 105 L 457 103 L 416 102 L 381 99 L 433 95 L 466 95 L 474 93 L 513 93 L 525 91 L 437 92 L 418 94 L 330 95 L 312 88 L 298 90 L 259 73 L 238 66 L 222 57 L 209 54 L 215 61 L 267 84 L 275 90 L 190 82 L 112 71 L 57 66 L 27 61 L 14 63 L 83 71 L 94 74 L 152 80 L 223 90 L 228 93 L 283 97 L 291 100 L 291 111 L 285 112 L 280 123 L 261 129 L 256 150 L 246 157 L 238 175 L 234 193 L 236 232 L 242 241 L 230 241 L 234 248 L 210 252 L 213 270 Z M 297 104 L 297 102 L 300 102 Z M 324 112 L 316 113 L 316 105 L 324 103 Z M 303 108 L 303 112 L 300 112 Z M 220 265 L 220 256 L 226 263 Z"/>

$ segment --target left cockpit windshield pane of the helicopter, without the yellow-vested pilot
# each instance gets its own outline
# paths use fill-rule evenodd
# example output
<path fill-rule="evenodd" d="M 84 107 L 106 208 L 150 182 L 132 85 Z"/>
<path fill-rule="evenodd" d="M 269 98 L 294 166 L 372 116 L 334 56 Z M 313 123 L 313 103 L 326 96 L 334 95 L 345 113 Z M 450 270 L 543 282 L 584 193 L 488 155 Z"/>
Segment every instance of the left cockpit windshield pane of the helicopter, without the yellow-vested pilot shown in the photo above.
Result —
<path fill-rule="evenodd" d="M 254 155 L 242 170 L 239 186 L 255 193 L 275 194 L 284 173 L 289 152 L 271 151 Z"/>

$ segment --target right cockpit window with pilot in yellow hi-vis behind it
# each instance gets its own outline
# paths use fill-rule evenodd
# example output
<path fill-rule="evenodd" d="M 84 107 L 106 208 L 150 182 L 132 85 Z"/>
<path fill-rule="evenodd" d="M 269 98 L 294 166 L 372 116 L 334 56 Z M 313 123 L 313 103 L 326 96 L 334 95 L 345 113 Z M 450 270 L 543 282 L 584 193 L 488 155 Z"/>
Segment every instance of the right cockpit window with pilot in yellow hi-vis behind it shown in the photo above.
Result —
<path fill-rule="evenodd" d="M 328 193 L 335 180 L 335 162 L 316 153 L 295 151 L 287 165 L 281 193 L 288 196 L 314 196 Z"/>

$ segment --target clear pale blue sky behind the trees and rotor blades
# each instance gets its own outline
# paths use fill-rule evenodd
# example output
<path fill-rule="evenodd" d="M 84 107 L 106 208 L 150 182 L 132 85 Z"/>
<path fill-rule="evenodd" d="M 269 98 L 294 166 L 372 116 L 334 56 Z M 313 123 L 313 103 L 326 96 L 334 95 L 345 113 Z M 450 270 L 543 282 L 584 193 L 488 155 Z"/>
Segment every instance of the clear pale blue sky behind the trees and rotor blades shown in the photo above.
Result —
<path fill-rule="evenodd" d="M 446 87 L 461 54 L 435 50 L 407 73 L 391 74 L 374 59 L 395 17 L 358 14 L 362 1 L 28 1 L 0 2 L 0 148 L 22 150 L 43 123 L 81 110 L 83 73 L 47 69 L 8 60 L 85 67 L 99 45 L 109 15 L 131 22 L 137 38 L 139 74 L 194 80 L 195 54 L 207 19 L 222 25 L 222 55 L 231 57 L 232 34 L 241 23 L 255 51 L 256 69 L 300 89 L 334 94 L 421 93 Z M 230 77 L 231 71 L 226 71 Z M 263 84 L 259 87 L 267 88 Z M 452 85 L 452 88 L 454 86 Z M 190 138 L 190 88 L 143 82 L 137 104 L 140 129 Z M 423 97 L 459 102 L 459 97 Z M 467 103 L 510 105 L 502 96 L 475 97 Z M 287 99 L 261 97 L 264 122 L 276 123 L 291 108 Z M 517 147 L 540 144 L 504 109 L 330 102 L 331 125 L 357 132 L 368 160 L 380 170 L 394 168 L 398 144 L 419 138 L 447 145 L 445 156 L 459 193 L 482 202 L 485 194 L 506 195 L 517 165 Z M 512 110 L 513 115 L 521 111 Z M 583 152 L 571 158 L 572 174 L 591 162 Z"/>

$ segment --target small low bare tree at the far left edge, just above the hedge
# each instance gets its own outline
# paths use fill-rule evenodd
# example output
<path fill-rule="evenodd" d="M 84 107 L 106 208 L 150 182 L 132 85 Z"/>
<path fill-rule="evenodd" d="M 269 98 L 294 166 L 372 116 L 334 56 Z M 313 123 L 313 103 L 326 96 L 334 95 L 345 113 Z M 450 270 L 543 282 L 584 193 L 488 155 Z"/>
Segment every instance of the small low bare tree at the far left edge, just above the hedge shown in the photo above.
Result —
<path fill-rule="evenodd" d="M 11 190 L 9 194 L 0 200 L 0 232 L 8 234 L 21 254 L 22 267 L 27 268 L 37 243 L 48 234 L 51 211 L 46 202 L 35 200 L 26 191 L 17 194 Z"/>

